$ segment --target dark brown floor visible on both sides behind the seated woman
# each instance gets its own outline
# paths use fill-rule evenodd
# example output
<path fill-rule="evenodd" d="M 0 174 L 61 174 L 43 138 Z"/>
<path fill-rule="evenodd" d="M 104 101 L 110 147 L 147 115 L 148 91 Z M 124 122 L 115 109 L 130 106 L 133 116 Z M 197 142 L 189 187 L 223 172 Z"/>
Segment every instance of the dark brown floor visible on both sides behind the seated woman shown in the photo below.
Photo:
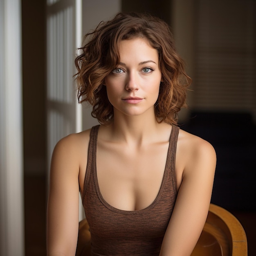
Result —
<path fill-rule="evenodd" d="M 26 176 L 25 184 L 25 250 L 26 256 L 46 255 L 46 189 L 45 177 Z M 256 212 L 232 212 L 247 234 L 248 256 L 256 255 Z"/>

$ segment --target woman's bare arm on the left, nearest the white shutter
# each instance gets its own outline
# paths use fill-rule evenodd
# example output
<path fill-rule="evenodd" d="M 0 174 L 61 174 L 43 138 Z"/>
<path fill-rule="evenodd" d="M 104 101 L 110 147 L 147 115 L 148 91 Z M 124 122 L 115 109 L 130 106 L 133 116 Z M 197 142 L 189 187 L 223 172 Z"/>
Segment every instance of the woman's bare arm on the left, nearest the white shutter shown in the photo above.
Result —
<path fill-rule="evenodd" d="M 79 225 L 76 136 L 61 139 L 52 154 L 47 205 L 47 256 L 71 256 L 76 252 Z"/>

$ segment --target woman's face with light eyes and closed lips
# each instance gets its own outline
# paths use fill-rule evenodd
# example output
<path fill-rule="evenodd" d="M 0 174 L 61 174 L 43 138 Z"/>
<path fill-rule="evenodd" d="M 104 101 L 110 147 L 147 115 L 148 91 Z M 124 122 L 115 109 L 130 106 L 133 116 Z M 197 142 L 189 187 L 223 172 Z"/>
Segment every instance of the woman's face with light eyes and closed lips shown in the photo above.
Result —
<path fill-rule="evenodd" d="M 162 73 L 157 50 L 146 39 L 122 40 L 120 63 L 106 76 L 108 99 L 115 112 L 142 115 L 152 112 L 159 94 Z"/>

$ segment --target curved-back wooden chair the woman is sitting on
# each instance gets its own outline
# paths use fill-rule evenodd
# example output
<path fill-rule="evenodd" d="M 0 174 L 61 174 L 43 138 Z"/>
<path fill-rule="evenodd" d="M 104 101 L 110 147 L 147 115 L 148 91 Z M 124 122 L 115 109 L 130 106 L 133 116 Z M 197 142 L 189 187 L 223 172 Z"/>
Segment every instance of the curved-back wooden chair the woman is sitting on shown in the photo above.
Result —
<path fill-rule="evenodd" d="M 90 231 L 86 219 L 79 222 L 76 256 L 90 255 Z M 210 204 L 202 234 L 191 256 L 247 256 L 245 231 L 229 211 Z"/>

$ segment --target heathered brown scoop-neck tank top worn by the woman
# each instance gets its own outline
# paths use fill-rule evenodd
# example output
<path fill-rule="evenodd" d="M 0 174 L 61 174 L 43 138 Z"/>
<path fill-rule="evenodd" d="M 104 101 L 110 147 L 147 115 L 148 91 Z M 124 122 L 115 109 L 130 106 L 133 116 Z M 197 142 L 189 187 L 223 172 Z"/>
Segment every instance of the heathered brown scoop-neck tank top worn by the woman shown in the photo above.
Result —
<path fill-rule="evenodd" d="M 171 130 L 166 166 L 157 197 L 148 207 L 125 211 L 112 207 L 101 195 L 96 151 L 99 126 L 92 127 L 83 188 L 83 207 L 91 232 L 91 255 L 159 255 L 177 197 L 175 156 L 179 127 Z"/>

